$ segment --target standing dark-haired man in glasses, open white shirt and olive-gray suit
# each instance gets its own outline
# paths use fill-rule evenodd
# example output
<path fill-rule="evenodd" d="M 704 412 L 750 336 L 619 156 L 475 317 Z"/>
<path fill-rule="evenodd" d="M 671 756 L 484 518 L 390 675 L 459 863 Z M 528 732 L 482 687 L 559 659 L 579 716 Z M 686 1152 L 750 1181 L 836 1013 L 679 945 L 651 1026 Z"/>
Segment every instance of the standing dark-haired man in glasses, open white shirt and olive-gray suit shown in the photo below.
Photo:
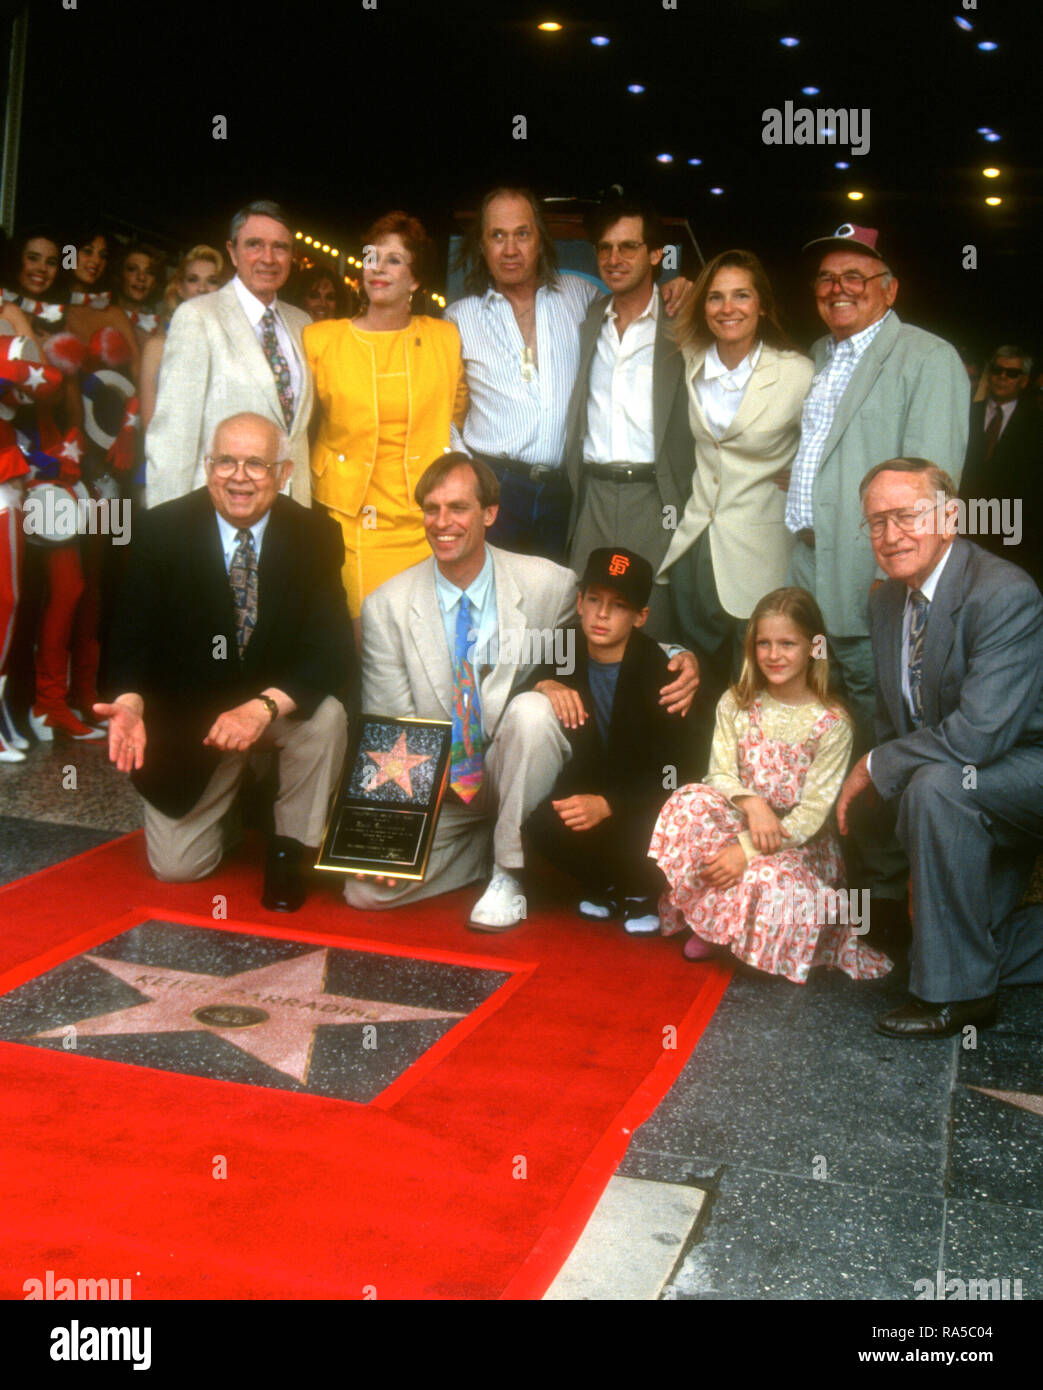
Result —
<path fill-rule="evenodd" d="M 655 571 L 695 467 L 684 363 L 655 284 L 666 232 L 651 208 L 619 199 L 598 208 L 590 234 L 612 295 L 594 300 L 580 328 L 565 445 L 569 564 L 580 574 L 591 550 L 623 538 Z M 649 610 L 649 635 L 665 637 L 666 588 L 654 588 Z"/>

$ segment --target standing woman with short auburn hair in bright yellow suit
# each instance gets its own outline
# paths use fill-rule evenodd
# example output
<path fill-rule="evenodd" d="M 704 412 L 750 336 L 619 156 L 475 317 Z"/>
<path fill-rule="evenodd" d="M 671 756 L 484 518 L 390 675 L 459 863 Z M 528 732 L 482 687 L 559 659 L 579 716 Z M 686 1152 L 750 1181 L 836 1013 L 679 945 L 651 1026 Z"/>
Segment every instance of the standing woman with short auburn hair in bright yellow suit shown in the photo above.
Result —
<path fill-rule="evenodd" d="M 413 488 L 467 411 L 456 325 L 413 316 L 432 243 L 413 217 L 388 213 L 366 234 L 364 310 L 303 334 L 321 417 L 312 496 L 343 531 L 343 587 L 362 600 L 431 553 Z"/>

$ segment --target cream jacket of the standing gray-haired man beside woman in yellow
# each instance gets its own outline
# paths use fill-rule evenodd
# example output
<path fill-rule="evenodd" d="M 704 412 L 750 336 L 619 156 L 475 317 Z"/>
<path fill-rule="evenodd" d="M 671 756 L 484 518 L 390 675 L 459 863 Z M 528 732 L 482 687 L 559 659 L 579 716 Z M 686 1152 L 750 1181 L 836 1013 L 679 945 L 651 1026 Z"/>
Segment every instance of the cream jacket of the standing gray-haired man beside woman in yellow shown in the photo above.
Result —
<path fill-rule="evenodd" d="M 314 391 L 300 335 L 312 320 L 282 300 L 277 307 L 300 359 L 300 399 L 288 431 L 291 491 L 295 502 L 309 506 L 307 423 Z M 223 420 L 246 410 L 284 427 L 275 378 L 229 282 L 214 295 L 186 300 L 170 322 L 156 414 L 145 435 L 146 505 L 154 507 L 203 486 L 210 435 Z"/>

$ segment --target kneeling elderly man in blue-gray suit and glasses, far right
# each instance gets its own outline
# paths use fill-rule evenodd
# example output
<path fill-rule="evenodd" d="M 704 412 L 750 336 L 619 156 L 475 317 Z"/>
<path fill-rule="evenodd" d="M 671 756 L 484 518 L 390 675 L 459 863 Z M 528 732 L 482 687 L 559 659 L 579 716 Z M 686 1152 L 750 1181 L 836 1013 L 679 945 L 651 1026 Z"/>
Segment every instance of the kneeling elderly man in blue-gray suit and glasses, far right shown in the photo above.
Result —
<path fill-rule="evenodd" d="M 1043 983 L 1043 905 L 1018 908 L 1043 848 L 1043 598 L 1024 570 L 955 537 L 957 489 L 923 459 L 862 481 L 887 582 L 869 602 L 878 742 L 837 802 L 897 803 L 912 878 L 908 1004 L 889 1037 L 996 1017 L 998 984 Z"/>

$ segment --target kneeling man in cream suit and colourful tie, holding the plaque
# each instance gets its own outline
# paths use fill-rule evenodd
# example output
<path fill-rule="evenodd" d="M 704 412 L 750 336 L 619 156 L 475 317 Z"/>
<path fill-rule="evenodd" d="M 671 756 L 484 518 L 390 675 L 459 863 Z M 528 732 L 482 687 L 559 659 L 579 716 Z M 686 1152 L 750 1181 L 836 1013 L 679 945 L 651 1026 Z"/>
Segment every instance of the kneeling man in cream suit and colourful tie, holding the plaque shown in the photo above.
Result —
<path fill-rule="evenodd" d="M 362 703 L 375 714 L 452 719 L 451 790 L 423 883 L 349 880 L 345 897 L 353 908 L 391 908 L 462 888 L 487 874 L 491 841 L 492 877 L 470 926 L 506 931 L 526 916 L 522 823 L 569 756 L 549 699 L 524 687 L 576 612 L 576 575 L 485 543 L 499 482 L 480 459 L 437 459 L 416 499 L 432 557 L 381 584 L 362 606 Z M 567 649 L 556 655 L 567 663 Z M 662 701 L 687 710 L 695 659 L 681 652 L 670 669 L 677 677 Z"/>

